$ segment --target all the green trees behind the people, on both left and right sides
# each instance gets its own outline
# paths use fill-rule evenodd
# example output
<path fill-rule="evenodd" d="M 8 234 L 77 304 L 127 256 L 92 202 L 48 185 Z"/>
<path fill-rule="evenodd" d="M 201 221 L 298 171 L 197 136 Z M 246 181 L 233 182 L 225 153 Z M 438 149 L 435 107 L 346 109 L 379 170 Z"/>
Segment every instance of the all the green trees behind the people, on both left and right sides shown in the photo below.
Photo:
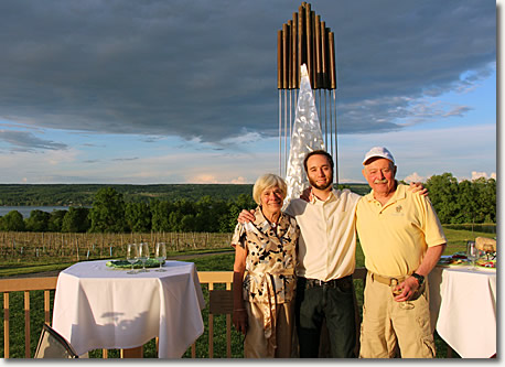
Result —
<path fill-rule="evenodd" d="M 461 181 L 451 173 L 430 177 L 425 186 L 442 224 L 496 223 L 496 181 Z M 340 185 L 340 188 L 348 188 Z M 353 188 L 351 186 L 351 188 Z M 364 194 L 363 191 L 359 194 Z M 29 218 L 18 211 L 0 217 L 0 230 L 53 233 L 232 233 L 241 209 L 256 207 L 250 194 L 232 199 L 204 195 L 197 201 L 151 198 L 126 202 L 112 186 L 97 191 L 93 207 L 68 211 L 32 211 Z"/>

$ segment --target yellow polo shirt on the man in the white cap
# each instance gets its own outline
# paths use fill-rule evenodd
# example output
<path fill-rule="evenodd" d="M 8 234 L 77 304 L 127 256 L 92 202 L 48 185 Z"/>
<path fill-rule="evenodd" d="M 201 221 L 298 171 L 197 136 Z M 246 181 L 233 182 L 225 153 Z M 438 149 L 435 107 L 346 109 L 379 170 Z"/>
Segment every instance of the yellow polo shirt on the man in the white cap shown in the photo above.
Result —
<path fill-rule="evenodd" d="M 357 204 L 356 228 L 365 253 L 365 267 L 385 277 L 411 274 L 428 247 L 447 242 L 442 226 L 428 197 L 398 185 L 386 205 L 374 192 Z"/>

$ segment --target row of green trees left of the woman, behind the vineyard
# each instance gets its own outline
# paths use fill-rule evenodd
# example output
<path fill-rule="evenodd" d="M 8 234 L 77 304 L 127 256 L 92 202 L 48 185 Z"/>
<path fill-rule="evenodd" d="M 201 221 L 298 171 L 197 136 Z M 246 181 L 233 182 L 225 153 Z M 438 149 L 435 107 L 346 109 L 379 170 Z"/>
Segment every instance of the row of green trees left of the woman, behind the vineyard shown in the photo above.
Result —
<path fill-rule="evenodd" d="M 198 201 L 151 199 L 125 202 L 115 187 L 99 188 L 93 207 L 74 207 L 52 213 L 34 209 L 23 219 L 18 211 L 0 217 L 0 230 L 62 233 L 230 233 L 243 208 L 254 208 L 251 195 L 239 194 L 224 201 L 209 195 Z"/>

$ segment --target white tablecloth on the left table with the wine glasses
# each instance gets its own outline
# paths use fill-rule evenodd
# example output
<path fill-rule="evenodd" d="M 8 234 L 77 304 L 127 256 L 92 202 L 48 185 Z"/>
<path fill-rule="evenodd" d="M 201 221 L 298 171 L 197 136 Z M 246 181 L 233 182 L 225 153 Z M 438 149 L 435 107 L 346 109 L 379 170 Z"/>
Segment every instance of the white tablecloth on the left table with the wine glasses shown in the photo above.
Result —
<path fill-rule="evenodd" d="M 79 355 L 133 348 L 159 336 L 160 358 L 181 357 L 204 330 L 194 263 L 166 261 L 165 272 L 127 274 L 106 262 L 78 262 L 60 273 L 53 327 Z"/>

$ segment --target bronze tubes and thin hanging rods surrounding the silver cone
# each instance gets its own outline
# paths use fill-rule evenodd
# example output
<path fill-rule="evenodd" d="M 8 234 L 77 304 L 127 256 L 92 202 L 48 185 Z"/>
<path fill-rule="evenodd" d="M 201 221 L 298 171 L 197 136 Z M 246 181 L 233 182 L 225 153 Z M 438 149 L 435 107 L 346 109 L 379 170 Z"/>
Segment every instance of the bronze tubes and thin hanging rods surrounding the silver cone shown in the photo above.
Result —
<path fill-rule="evenodd" d="M 336 165 L 335 36 L 311 4 L 302 2 L 291 20 L 277 32 L 277 88 L 279 89 L 279 174 L 288 173 L 288 136 L 292 137 L 293 111 L 300 89 L 301 65 L 307 65 L 310 86 L 319 109 L 326 151 Z M 322 93 L 323 91 L 323 93 Z M 327 93 L 331 93 L 327 98 Z M 318 98 L 319 97 L 319 98 Z M 324 123 L 323 123 L 324 122 Z M 291 140 L 291 139 L 290 139 Z M 335 166 L 335 182 L 339 183 Z"/>

